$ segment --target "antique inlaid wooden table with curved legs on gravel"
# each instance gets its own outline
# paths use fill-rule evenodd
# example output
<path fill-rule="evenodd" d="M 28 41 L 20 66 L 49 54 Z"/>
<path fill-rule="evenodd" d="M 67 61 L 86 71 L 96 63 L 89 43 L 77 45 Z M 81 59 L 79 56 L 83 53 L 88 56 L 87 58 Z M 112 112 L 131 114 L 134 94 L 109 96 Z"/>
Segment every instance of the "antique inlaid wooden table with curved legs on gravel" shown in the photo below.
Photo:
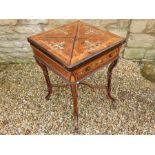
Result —
<path fill-rule="evenodd" d="M 78 84 L 93 87 L 82 82 L 98 69 L 108 67 L 107 96 L 111 96 L 111 75 L 119 58 L 119 51 L 125 42 L 115 34 L 102 31 L 81 21 L 69 23 L 54 30 L 46 31 L 28 38 L 34 52 L 34 58 L 42 68 L 47 83 L 48 100 L 53 87 L 69 85 L 73 97 L 74 123 L 78 129 Z M 48 69 L 62 77 L 65 85 L 51 84 Z M 100 88 L 102 86 L 96 86 Z"/>

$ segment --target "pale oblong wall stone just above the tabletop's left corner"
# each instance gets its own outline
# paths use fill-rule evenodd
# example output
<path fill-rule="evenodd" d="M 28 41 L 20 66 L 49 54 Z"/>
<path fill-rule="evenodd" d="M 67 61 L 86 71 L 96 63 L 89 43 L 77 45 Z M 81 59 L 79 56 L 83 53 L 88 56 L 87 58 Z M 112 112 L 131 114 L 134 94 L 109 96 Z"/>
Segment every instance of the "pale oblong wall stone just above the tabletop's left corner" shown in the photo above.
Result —
<path fill-rule="evenodd" d="M 35 34 L 42 31 L 39 25 L 16 26 L 15 31 L 23 34 Z"/>

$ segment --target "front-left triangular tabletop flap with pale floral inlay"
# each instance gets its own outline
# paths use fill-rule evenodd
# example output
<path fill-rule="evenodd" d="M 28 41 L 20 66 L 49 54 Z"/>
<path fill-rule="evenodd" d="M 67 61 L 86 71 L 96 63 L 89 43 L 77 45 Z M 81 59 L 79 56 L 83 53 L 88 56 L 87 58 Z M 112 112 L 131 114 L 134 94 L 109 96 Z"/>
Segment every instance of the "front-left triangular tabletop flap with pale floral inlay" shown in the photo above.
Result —
<path fill-rule="evenodd" d="M 73 38 L 40 38 L 36 43 L 43 47 L 46 52 L 54 55 L 64 64 L 70 64 L 72 55 Z"/>

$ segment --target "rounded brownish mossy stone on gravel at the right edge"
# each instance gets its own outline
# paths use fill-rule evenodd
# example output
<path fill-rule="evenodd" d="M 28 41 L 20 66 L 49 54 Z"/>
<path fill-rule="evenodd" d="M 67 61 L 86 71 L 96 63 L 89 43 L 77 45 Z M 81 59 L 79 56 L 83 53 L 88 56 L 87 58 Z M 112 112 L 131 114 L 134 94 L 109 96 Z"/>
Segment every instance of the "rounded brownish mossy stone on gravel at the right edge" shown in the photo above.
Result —
<path fill-rule="evenodd" d="M 141 68 L 141 74 L 146 79 L 155 82 L 155 62 L 145 62 Z"/>

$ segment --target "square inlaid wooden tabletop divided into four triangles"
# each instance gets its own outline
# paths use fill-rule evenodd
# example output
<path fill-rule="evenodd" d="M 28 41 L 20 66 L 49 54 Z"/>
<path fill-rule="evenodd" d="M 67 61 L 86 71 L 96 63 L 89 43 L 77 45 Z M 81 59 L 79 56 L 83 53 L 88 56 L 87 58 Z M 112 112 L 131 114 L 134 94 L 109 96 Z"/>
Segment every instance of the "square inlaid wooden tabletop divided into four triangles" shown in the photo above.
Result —
<path fill-rule="evenodd" d="M 108 49 L 121 45 L 125 39 L 76 21 L 31 36 L 28 41 L 66 69 L 72 70 Z"/>

